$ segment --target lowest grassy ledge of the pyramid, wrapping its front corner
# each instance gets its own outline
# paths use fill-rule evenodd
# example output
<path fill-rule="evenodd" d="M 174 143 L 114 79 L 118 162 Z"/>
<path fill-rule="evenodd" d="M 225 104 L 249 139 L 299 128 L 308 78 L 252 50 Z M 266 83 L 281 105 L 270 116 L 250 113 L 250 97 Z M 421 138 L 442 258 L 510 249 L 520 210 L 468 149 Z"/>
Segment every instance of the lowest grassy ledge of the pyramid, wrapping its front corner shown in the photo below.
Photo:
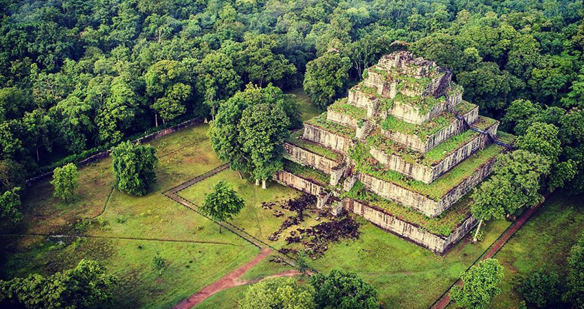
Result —
<path fill-rule="evenodd" d="M 447 211 L 443 212 L 440 217 L 430 218 L 409 207 L 398 205 L 367 191 L 361 181 L 357 181 L 352 189 L 346 192 L 344 196 L 384 209 L 389 214 L 401 220 L 413 223 L 421 229 L 440 236 L 449 236 L 453 229 L 456 229 L 464 219 L 469 217 L 472 203 L 469 196 L 464 196 L 460 201 L 447 209 Z"/>

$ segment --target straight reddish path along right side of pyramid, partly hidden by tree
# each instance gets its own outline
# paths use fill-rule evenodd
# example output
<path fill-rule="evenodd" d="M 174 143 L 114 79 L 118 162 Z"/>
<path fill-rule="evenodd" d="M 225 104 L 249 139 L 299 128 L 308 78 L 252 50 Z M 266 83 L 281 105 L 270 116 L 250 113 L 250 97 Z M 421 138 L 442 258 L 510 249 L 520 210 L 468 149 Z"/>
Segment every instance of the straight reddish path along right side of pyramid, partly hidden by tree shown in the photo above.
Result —
<path fill-rule="evenodd" d="M 546 201 L 548 200 L 550 195 L 552 195 L 552 194 L 551 193 L 545 194 Z M 499 250 L 507 243 L 507 241 L 513 236 L 513 234 L 515 234 L 516 231 L 521 229 L 521 227 L 523 227 L 525 222 L 527 222 L 527 220 L 529 220 L 529 218 L 531 218 L 531 216 L 533 216 L 533 214 L 535 214 L 537 212 L 537 210 L 539 210 L 539 208 L 541 208 L 542 205 L 543 205 L 543 203 L 539 203 L 539 204 L 537 204 L 537 206 L 532 207 L 532 208 L 524 211 L 524 213 L 521 214 L 521 216 L 519 216 L 519 218 L 517 218 L 517 220 L 515 220 L 515 222 L 513 222 L 513 224 L 505 231 L 505 233 L 503 233 L 502 236 L 499 236 L 499 239 L 489 249 L 487 249 L 486 253 L 484 253 L 484 255 L 482 256 L 482 258 L 480 258 L 480 260 L 482 261 L 482 260 L 485 260 L 488 258 L 493 258 L 493 256 L 495 256 L 495 254 L 497 254 L 497 252 L 499 252 Z M 458 281 L 455 284 L 453 284 L 452 286 L 454 286 L 454 285 L 462 286 L 462 280 L 458 279 Z M 448 304 L 450 304 L 449 291 L 450 291 L 450 289 L 447 290 L 447 292 L 444 295 L 442 295 L 442 297 L 440 299 L 438 299 L 438 301 L 436 301 L 436 303 L 434 303 L 434 305 L 432 305 L 430 308 L 431 309 L 444 309 L 444 308 L 446 308 L 448 306 Z"/>

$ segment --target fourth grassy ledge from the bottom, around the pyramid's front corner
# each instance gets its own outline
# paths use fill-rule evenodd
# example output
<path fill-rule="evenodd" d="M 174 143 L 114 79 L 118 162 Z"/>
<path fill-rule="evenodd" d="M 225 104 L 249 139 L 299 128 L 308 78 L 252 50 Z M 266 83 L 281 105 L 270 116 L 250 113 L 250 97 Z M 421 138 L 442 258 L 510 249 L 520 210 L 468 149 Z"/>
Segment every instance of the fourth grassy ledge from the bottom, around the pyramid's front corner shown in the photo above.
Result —
<path fill-rule="evenodd" d="M 383 130 L 397 131 L 407 135 L 416 135 L 422 141 L 449 126 L 456 118 L 451 113 L 441 113 L 423 124 L 410 124 L 392 115 L 381 122 Z"/>

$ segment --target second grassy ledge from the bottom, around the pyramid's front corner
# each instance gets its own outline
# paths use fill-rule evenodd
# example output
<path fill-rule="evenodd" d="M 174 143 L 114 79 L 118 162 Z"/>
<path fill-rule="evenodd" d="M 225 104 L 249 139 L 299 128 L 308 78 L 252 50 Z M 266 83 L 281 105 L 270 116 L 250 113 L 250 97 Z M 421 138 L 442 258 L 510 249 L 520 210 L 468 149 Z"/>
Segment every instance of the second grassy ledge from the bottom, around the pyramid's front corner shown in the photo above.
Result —
<path fill-rule="evenodd" d="M 479 150 L 466 160 L 458 163 L 449 172 L 443 174 L 430 184 L 421 181 L 408 179 L 407 176 L 385 168 L 381 163 L 371 157 L 366 145 L 358 144 L 352 151 L 351 159 L 355 162 L 355 168 L 359 172 L 370 174 L 376 178 L 390 183 L 395 183 L 419 194 L 423 194 L 434 201 L 447 194 L 453 187 L 456 187 L 464 179 L 471 176 L 480 166 L 495 158 L 503 152 L 504 147 L 491 144 L 483 150 Z"/>

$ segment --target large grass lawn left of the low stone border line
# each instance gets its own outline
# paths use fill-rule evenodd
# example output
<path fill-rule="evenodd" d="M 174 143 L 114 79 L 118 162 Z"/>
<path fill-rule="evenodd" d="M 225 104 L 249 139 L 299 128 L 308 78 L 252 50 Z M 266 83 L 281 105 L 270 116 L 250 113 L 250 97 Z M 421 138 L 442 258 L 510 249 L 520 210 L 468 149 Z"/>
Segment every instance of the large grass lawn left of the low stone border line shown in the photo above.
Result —
<path fill-rule="evenodd" d="M 91 258 L 120 277 L 112 308 L 169 308 L 251 260 L 256 247 L 229 231 L 219 235 L 213 222 L 161 194 L 221 165 L 210 151 L 207 128 L 195 126 L 151 143 L 159 166 L 157 184 L 146 196 L 112 190 L 111 159 L 80 169 L 78 195 L 69 204 L 52 197 L 48 181 L 30 187 L 23 196 L 23 223 L 2 227 L 3 233 L 70 233 L 76 227 L 76 233 L 98 238 L 2 236 L 2 278 L 54 273 Z M 103 226 L 75 224 L 98 215 Z M 157 252 L 168 265 L 161 275 L 153 269 Z"/>

